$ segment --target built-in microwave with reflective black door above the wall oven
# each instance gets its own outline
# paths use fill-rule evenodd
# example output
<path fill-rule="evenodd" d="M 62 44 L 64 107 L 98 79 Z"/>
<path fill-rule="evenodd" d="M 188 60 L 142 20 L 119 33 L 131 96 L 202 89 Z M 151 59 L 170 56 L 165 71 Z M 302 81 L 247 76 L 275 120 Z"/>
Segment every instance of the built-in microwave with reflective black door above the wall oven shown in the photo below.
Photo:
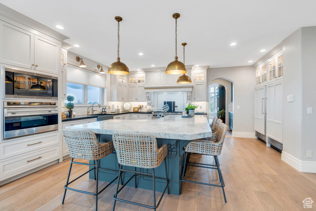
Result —
<path fill-rule="evenodd" d="M 58 78 L 2 67 L 5 99 L 30 98 L 58 100 Z"/>

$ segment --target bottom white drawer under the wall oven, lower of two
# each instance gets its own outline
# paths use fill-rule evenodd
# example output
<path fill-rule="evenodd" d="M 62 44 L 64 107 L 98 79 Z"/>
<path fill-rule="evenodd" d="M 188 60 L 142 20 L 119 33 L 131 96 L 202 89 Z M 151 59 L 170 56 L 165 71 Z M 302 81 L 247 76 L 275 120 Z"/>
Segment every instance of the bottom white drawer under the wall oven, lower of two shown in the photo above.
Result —
<path fill-rule="evenodd" d="M 0 163 L 0 177 L 20 174 L 55 158 L 59 158 L 59 146 L 4 161 Z"/>

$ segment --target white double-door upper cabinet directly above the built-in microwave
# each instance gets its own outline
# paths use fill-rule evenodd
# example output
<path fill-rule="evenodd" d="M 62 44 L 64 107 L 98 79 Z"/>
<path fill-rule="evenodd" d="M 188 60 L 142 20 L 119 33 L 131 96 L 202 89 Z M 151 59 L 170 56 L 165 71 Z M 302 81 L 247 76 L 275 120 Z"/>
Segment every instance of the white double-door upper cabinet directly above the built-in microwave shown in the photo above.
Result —
<path fill-rule="evenodd" d="M 0 62 L 46 73 L 60 73 L 60 44 L 0 21 Z"/>

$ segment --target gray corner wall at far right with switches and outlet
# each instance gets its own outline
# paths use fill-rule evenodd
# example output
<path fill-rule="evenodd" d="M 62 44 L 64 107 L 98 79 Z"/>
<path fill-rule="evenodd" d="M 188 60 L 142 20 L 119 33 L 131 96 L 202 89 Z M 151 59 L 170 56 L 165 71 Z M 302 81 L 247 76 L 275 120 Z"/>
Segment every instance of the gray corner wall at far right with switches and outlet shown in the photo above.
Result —
<path fill-rule="evenodd" d="M 316 27 L 303 27 L 283 40 L 283 151 L 302 161 L 316 161 Z M 294 95 L 294 102 L 287 96 Z M 307 114 L 307 107 L 314 107 Z M 307 150 L 313 157 L 307 158 Z"/>

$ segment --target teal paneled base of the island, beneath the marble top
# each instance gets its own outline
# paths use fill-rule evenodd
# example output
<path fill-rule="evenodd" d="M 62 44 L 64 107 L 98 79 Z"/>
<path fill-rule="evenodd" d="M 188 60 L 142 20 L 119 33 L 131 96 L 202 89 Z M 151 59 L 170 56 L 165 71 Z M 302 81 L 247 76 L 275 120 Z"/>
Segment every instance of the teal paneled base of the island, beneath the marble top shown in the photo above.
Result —
<path fill-rule="evenodd" d="M 99 142 L 109 142 L 112 140 L 112 135 L 107 134 L 96 134 Z M 169 179 L 169 190 L 170 194 L 179 195 L 180 185 L 181 185 L 181 172 L 184 163 L 184 150 L 183 147 L 186 146 L 190 140 L 176 140 L 176 139 L 161 139 L 157 138 L 158 148 L 163 144 L 168 146 L 168 154 L 166 156 L 167 161 L 167 172 Z M 93 164 L 93 161 L 90 161 Z M 119 163 L 116 157 L 116 153 L 113 152 L 105 158 L 100 159 L 99 167 L 104 169 L 119 171 Z M 123 166 L 123 169 L 134 171 L 134 167 Z M 152 173 L 152 169 L 141 169 L 136 168 L 136 171 L 141 171 L 145 173 Z M 115 177 L 119 175 L 118 172 L 99 170 L 99 180 L 105 182 L 111 182 Z M 123 184 L 133 176 L 133 173 L 124 172 L 122 175 Z M 160 166 L 155 168 L 155 177 L 166 178 L 165 164 L 161 163 Z M 94 179 L 94 171 L 89 172 L 89 178 Z M 117 183 L 115 181 L 114 183 Z M 132 179 L 128 186 L 134 187 L 135 180 Z M 166 180 L 155 179 L 155 190 L 158 192 L 163 192 L 166 187 Z M 143 188 L 148 190 L 153 190 L 153 179 L 149 177 L 137 176 L 137 188 Z"/>

